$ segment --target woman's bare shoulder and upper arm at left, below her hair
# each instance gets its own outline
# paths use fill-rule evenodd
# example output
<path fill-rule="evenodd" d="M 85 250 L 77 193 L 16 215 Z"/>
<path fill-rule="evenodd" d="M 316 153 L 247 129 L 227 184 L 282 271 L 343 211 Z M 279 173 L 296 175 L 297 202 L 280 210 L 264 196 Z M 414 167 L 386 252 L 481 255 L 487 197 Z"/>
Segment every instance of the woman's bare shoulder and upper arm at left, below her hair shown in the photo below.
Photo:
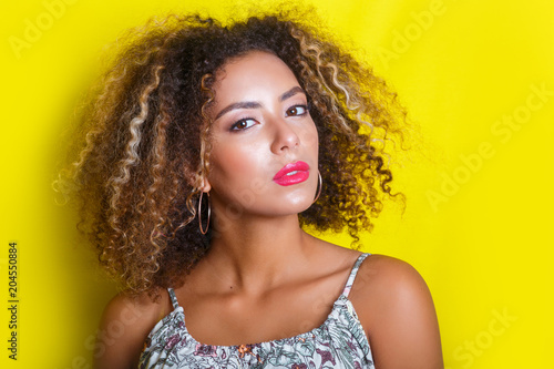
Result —
<path fill-rule="evenodd" d="M 144 340 L 170 309 L 166 294 L 156 300 L 146 295 L 119 294 L 107 303 L 96 337 L 94 368 L 136 368 Z"/>

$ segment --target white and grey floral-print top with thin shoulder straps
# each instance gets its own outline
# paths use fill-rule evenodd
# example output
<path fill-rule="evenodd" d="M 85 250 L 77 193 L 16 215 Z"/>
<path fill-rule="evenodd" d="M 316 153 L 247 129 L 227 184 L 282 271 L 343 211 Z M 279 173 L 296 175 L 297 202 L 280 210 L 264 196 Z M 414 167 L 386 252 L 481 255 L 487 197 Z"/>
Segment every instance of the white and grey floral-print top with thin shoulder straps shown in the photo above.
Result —
<path fill-rule="evenodd" d="M 213 346 L 196 341 L 186 329 L 183 307 L 168 288 L 174 310 L 146 338 L 142 368 L 370 368 L 375 369 L 366 332 L 348 294 L 361 262 L 356 260 L 342 294 L 325 322 L 304 334 L 274 341 Z"/>

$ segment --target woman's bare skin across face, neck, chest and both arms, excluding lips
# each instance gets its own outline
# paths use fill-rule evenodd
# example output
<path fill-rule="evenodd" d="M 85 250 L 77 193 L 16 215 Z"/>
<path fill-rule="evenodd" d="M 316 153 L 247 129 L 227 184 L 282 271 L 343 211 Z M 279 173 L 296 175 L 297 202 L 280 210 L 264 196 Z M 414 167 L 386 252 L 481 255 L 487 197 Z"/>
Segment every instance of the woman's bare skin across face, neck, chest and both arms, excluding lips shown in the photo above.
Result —
<path fill-rule="evenodd" d="M 297 214 L 310 206 L 317 188 L 317 131 L 302 109 L 306 96 L 288 66 L 266 52 L 228 61 L 216 81 L 204 182 L 216 233 L 209 253 L 175 290 L 186 326 L 196 340 L 223 346 L 309 331 L 326 320 L 360 253 L 299 227 Z M 273 181 L 299 160 L 310 166 L 307 181 Z M 377 368 L 443 368 L 431 295 L 410 265 L 369 256 L 350 300 Z M 104 350 L 96 351 L 95 368 L 136 367 L 144 339 L 172 309 L 167 294 L 155 303 L 114 297 L 102 317 L 106 334 L 99 338 Z M 131 316 L 136 319 L 110 339 L 110 327 Z"/>

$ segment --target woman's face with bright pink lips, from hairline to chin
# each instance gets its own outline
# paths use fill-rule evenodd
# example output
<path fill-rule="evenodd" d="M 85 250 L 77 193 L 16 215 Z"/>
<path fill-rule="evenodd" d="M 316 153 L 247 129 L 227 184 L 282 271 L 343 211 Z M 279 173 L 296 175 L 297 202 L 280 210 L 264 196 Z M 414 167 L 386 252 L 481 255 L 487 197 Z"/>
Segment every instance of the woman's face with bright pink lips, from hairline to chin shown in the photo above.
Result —
<path fill-rule="evenodd" d="M 209 176 L 214 212 L 283 216 L 310 206 L 318 135 L 290 69 L 268 52 L 232 59 L 215 75 Z"/>

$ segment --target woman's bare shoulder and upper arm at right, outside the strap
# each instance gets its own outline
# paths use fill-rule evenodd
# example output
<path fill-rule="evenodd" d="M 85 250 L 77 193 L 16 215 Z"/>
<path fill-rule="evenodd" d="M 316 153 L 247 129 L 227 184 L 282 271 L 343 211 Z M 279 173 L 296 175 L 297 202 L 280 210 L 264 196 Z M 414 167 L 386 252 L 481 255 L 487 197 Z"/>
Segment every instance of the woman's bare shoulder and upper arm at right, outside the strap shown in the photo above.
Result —
<path fill-rule="evenodd" d="M 352 303 L 376 367 L 443 368 L 439 324 L 423 278 L 394 258 L 376 255 L 367 262 L 355 283 Z"/>

